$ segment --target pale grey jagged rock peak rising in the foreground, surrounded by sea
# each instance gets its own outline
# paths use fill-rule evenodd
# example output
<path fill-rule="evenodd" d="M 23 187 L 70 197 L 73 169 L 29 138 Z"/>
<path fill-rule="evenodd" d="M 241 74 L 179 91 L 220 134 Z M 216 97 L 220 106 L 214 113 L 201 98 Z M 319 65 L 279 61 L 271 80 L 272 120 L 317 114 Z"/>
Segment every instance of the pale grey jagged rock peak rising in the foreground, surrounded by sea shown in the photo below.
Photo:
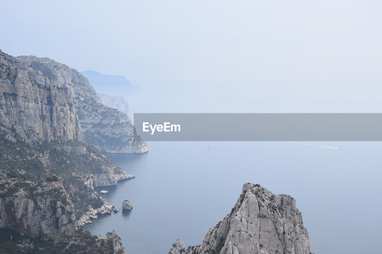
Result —
<path fill-rule="evenodd" d="M 293 197 L 245 183 L 230 214 L 185 254 L 310 254 L 308 230 Z"/>

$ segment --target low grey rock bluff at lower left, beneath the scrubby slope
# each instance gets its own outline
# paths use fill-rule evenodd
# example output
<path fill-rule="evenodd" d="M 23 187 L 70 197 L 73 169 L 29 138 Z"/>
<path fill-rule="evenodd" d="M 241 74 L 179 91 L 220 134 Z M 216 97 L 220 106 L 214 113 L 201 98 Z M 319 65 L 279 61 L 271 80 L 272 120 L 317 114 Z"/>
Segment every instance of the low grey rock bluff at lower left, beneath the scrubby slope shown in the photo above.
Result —
<path fill-rule="evenodd" d="M 74 206 L 62 183 L 1 180 L 0 227 L 59 240 L 76 230 Z"/>

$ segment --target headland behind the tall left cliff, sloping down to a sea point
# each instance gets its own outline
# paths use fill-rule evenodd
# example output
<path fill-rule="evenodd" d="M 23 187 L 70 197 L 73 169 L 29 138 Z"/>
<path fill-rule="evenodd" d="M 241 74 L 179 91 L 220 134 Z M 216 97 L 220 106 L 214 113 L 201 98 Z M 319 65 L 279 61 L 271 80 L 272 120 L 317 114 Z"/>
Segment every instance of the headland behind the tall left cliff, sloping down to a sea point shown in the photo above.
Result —
<path fill-rule="evenodd" d="M 73 90 L 73 103 L 81 125 L 81 138 L 108 153 L 145 153 L 147 144 L 134 131 L 128 116 L 100 103 L 99 96 L 75 69 L 49 58 L 18 56 L 17 59 L 56 83 Z"/>

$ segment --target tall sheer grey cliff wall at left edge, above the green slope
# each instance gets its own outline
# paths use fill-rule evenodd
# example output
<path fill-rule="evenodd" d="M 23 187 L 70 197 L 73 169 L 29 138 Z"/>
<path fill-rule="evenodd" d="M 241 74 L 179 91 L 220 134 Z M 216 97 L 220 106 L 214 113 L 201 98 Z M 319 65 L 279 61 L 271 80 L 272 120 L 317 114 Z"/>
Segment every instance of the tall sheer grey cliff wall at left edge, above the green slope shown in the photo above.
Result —
<path fill-rule="evenodd" d="M 47 74 L 0 50 L 0 125 L 31 141 L 79 140 L 72 89 Z"/>

